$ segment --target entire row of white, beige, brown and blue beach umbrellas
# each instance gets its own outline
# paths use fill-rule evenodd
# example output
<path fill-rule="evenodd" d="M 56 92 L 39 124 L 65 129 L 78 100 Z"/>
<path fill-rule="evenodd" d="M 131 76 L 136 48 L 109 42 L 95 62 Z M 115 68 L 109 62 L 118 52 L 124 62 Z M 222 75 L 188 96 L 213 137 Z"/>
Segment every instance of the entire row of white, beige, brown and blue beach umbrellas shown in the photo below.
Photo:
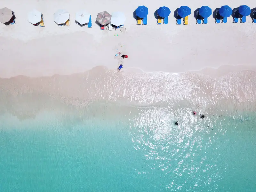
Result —
<path fill-rule="evenodd" d="M 238 12 L 242 16 L 248 16 L 251 13 L 250 7 L 247 5 L 241 5 L 238 8 Z M 146 6 L 139 6 L 135 10 L 136 16 L 139 18 L 145 18 L 148 15 L 148 8 Z M 157 14 L 159 17 L 165 18 L 170 15 L 171 11 L 168 7 L 160 7 L 157 10 Z M 191 14 L 191 9 L 188 6 L 181 6 L 178 9 L 177 15 L 179 15 L 181 18 L 184 18 Z M 210 17 L 212 14 L 212 9 L 208 6 L 202 6 L 199 9 L 199 15 L 202 18 Z M 229 17 L 232 14 L 232 9 L 228 5 L 223 5 L 219 9 L 219 14 L 222 17 Z M 11 9 L 4 7 L 0 9 L 0 22 L 6 23 L 9 22 L 13 17 L 13 12 Z M 91 15 L 87 13 L 86 11 L 82 10 L 76 13 L 76 21 L 83 25 L 85 23 L 88 23 L 90 21 Z M 32 10 L 28 13 L 28 21 L 32 24 L 36 24 L 42 20 L 42 13 L 37 11 L 36 9 Z M 57 12 L 54 13 L 54 21 L 57 24 L 63 24 L 67 20 L 69 20 L 69 13 L 66 10 L 60 9 Z M 100 23 L 100 25 L 107 25 L 108 23 L 111 23 L 115 26 L 120 26 L 124 24 L 124 21 L 126 20 L 125 15 L 123 12 L 113 12 L 112 14 L 109 14 L 107 11 L 100 12 L 97 15 L 97 22 Z"/>

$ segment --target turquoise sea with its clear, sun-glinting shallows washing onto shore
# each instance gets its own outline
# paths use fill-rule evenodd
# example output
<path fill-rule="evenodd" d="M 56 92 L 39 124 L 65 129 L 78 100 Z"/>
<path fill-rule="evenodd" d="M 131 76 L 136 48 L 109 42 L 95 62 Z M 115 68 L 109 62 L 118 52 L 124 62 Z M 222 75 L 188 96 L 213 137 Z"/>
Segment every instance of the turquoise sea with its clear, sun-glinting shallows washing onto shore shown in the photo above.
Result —
<path fill-rule="evenodd" d="M 0 191 L 255 190 L 255 73 L 113 74 L 1 80 Z"/>

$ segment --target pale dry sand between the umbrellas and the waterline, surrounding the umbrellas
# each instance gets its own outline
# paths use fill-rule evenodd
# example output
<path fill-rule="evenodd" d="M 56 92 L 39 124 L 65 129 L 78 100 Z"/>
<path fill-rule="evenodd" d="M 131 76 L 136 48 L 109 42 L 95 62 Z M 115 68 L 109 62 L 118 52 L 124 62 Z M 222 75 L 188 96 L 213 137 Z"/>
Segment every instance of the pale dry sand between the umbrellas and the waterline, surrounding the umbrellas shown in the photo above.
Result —
<path fill-rule="evenodd" d="M 123 71 L 141 69 L 145 72 L 165 71 L 171 73 L 200 71 L 212 75 L 225 71 L 255 70 L 256 24 L 250 16 L 246 23 L 196 25 L 194 11 L 202 5 L 212 8 L 221 5 L 232 9 L 241 4 L 256 7 L 253 0 L 225 2 L 196 1 L 81 1 L 81 0 L 2 0 L 0 7 L 15 12 L 16 24 L 5 26 L 0 23 L 0 77 L 52 76 L 84 72 L 96 66 L 116 69 L 116 51 L 129 56 L 124 61 Z M 136 25 L 134 10 L 148 7 L 148 25 Z M 174 11 L 181 5 L 191 8 L 189 24 L 176 25 Z M 168 25 L 156 25 L 154 12 L 161 6 L 171 9 Z M 37 9 L 43 13 L 45 27 L 35 27 L 28 22 L 28 12 Z M 70 13 L 70 26 L 59 27 L 53 20 L 58 9 Z M 76 12 L 85 9 L 92 15 L 92 28 L 80 27 L 75 23 Z M 126 15 L 123 32 L 100 30 L 95 23 L 98 12 L 122 11 Z M 118 36 L 116 36 L 118 35 Z M 223 66 L 226 67 L 223 67 Z M 236 65 L 236 68 L 232 66 Z M 222 66 L 222 67 L 220 67 Z M 212 68 L 220 70 L 212 72 Z"/>

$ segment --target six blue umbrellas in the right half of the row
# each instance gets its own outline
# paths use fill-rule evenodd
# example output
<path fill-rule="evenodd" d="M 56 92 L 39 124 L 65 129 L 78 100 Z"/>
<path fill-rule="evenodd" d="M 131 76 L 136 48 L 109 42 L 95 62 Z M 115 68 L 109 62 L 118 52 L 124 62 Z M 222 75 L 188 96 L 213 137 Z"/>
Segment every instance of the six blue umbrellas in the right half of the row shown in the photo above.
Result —
<path fill-rule="evenodd" d="M 238 8 L 238 12 L 242 16 L 248 16 L 251 13 L 251 9 L 247 5 L 241 5 Z M 137 17 L 145 18 L 148 15 L 148 8 L 146 6 L 139 6 L 135 10 L 135 13 Z M 168 17 L 170 13 L 171 13 L 170 9 L 165 6 L 159 7 L 159 9 L 157 10 L 157 15 L 162 18 Z M 181 18 L 187 17 L 190 14 L 191 14 L 191 9 L 188 6 L 181 6 L 177 12 L 177 15 L 179 15 Z M 222 17 L 230 17 L 230 15 L 232 14 L 232 9 L 228 5 L 223 5 L 219 9 L 219 14 Z M 202 6 L 199 9 L 199 15 L 202 18 L 210 17 L 212 15 L 212 9 L 208 6 Z"/>

